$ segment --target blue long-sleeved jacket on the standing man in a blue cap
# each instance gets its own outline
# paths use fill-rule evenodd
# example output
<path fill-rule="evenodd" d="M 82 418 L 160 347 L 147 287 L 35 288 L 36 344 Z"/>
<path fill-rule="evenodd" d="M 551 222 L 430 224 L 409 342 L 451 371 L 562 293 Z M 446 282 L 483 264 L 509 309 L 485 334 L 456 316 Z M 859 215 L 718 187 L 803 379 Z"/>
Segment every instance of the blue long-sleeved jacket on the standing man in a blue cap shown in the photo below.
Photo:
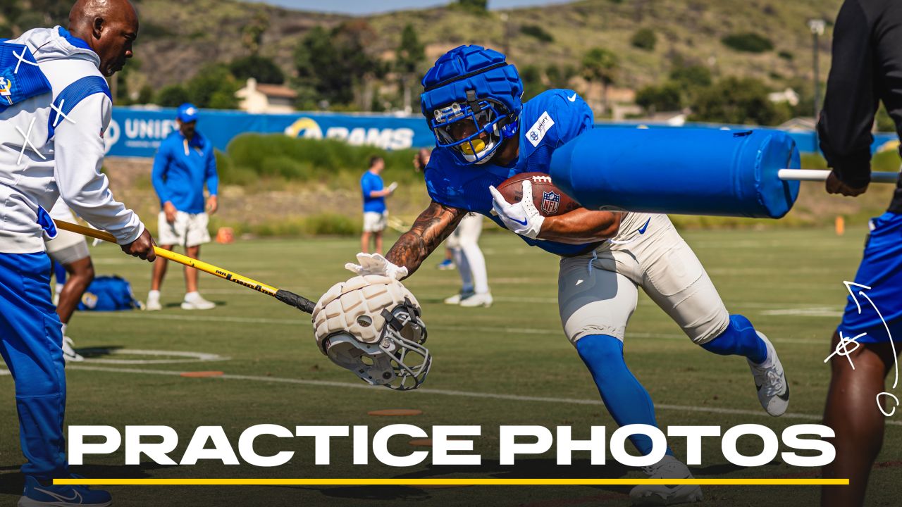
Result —
<path fill-rule="evenodd" d="M 160 206 L 167 201 L 185 213 L 203 213 L 204 183 L 211 196 L 219 189 L 213 143 L 200 133 L 187 141 L 178 130 L 160 144 L 153 158 L 153 189 Z"/>

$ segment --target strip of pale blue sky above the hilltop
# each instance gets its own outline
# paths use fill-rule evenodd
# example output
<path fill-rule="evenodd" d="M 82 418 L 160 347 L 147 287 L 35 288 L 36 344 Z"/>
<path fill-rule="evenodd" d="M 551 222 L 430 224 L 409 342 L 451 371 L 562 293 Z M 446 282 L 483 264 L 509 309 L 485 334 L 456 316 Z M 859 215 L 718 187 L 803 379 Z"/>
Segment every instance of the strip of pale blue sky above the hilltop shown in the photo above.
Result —
<path fill-rule="evenodd" d="M 249 0 L 265 4 L 281 5 L 301 11 L 319 11 L 341 14 L 375 14 L 403 9 L 417 9 L 446 5 L 451 0 L 341 0 L 339 2 L 323 2 L 322 0 Z M 490 9 L 510 9 L 530 5 L 564 4 L 568 0 L 489 0 Z"/>

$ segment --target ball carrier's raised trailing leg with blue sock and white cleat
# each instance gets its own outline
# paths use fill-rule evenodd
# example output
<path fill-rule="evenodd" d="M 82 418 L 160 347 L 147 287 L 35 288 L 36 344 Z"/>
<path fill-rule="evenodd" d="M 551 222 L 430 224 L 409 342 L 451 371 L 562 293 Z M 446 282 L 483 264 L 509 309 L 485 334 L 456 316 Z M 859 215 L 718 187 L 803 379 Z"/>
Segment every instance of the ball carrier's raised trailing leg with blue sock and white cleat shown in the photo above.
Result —
<path fill-rule="evenodd" d="M 727 312 L 704 266 L 666 215 L 636 215 L 634 219 L 645 219 L 643 233 L 628 236 L 632 241 L 619 247 L 640 263 L 642 289 L 696 345 L 718 355 L 745 357 L 761 406 L 770 415 L 782 415 L 789 403 L 789 385 L 767 336 L 748 318 Z"/>

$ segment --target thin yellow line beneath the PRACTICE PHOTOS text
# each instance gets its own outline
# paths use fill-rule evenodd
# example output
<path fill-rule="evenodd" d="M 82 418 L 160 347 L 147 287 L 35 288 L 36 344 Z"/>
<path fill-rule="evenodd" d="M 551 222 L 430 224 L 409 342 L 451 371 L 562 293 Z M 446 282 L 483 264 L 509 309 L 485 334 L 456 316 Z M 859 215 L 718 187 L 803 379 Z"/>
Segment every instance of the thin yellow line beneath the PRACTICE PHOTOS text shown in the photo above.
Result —
<path fill-rule="evenodd" d="M 849 479 L 54 479 L 56 485 L 88 486 L 823 486 Z"/>

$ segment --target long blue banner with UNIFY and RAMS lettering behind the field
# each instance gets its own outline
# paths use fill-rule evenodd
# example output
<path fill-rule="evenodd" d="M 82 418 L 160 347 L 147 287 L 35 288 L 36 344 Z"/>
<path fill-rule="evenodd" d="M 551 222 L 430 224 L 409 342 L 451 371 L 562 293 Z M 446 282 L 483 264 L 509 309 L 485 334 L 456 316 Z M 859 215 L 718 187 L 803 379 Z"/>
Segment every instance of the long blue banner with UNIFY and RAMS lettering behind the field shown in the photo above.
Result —
<path fill-rule="evenodd" d="M 629 127 L 638 124 L 596 124 L 596 127 Z M 643 125 L 644 126 L 644 125 Z M 687 124 L 686 126 L 748 130 L 741 125 Z M 650 128 L 680 128 L 649 125 Z M 106 154 L 119 157 L 152 157 L 175 126 L 175 109 L 115 107 L 105 134 Z M 241 111 L 203 110 L 198 130 L 219 150 L 244 133 L 286 134 L 308 139 L 338 139 L 350 144 L 369 144 L 384 150 L 402 150 L 435 145 L 422 116 L 337 115 L 299 112 L 291 115 L 251 115 Z M 799 152 L 817 152 L 815 133 L 790 132 Z M 874 134 L 872 152 L 897 149 L 896 134 Z"/>

